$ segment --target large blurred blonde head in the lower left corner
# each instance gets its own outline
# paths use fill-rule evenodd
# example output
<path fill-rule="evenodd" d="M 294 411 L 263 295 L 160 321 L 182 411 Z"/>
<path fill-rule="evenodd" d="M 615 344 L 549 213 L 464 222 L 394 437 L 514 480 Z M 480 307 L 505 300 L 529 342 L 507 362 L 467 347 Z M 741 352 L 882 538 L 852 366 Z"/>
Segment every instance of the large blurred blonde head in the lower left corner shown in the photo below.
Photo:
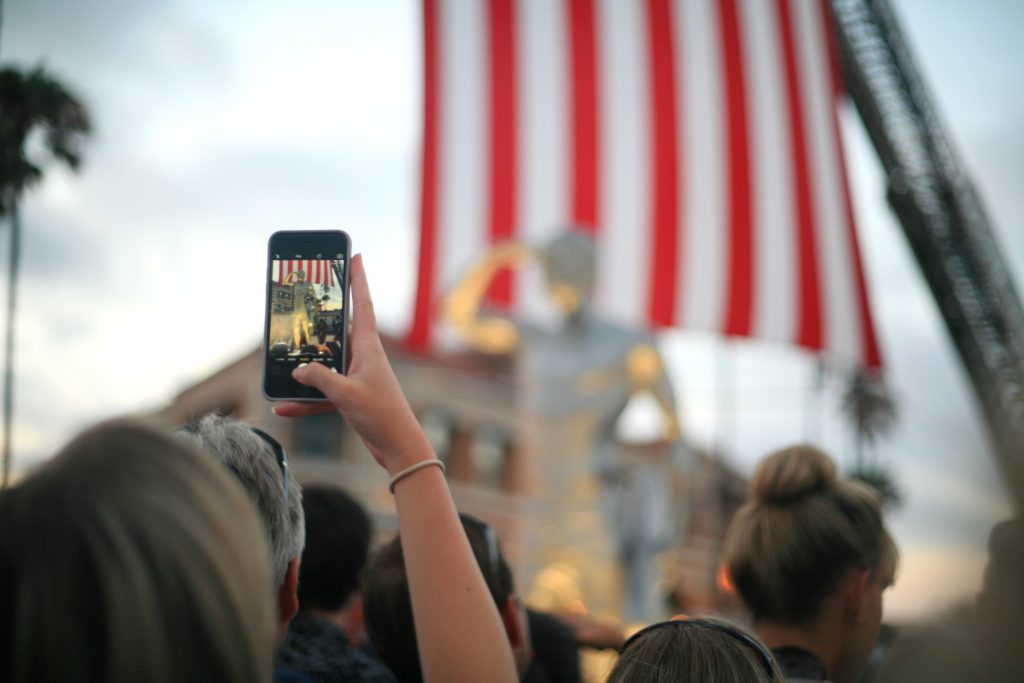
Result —
<path fill-rule="evenodd" d="M 0 493 L 0 679 L 268 681 L 269 552 L 223 468 L 138 422 Z"/>

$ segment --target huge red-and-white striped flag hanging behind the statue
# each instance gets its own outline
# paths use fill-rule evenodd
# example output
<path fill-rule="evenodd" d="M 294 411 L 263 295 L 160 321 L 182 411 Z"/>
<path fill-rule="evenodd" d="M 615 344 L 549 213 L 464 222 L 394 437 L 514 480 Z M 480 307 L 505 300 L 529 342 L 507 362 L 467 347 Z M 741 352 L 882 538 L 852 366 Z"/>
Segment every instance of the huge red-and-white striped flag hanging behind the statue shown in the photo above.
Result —
<path fill-rule="evenodd" d="M 569 224 L 595 308 L 881 365 L 823 0 L 422 0 L 410 342 L 489 245 Z M 528 315 L 503 272 L 488 302 Z"/>

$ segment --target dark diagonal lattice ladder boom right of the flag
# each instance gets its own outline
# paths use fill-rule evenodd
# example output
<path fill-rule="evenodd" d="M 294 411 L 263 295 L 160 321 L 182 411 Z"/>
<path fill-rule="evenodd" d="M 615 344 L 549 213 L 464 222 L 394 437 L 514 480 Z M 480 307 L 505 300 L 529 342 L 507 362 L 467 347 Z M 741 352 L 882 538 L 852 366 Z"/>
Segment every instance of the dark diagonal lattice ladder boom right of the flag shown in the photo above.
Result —
<path fill-rule="evenodd" d="M 1024 310 L 978 193 L 889 0 L 831 0 L 847 90 L 888 201 L 959 353 L 1018 509 L 1024 502 Z"/>

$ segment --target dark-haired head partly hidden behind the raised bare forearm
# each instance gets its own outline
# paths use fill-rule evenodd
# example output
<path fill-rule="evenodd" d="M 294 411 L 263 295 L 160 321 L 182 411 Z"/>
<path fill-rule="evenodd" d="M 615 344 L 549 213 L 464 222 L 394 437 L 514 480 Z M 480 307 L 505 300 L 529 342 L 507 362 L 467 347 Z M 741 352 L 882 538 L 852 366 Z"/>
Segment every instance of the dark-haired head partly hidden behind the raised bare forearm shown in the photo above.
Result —
<path fill-rule="evenodd" d="M 529 633 L 515 595 L 512 571 L 498 547 L 494 529 L 471 515 L 460 517 L 522 675 L 529 664 Z M 371 642 L 395 678 L 401 683 L 422 681 L 409 579 L 397 537 L 374 555 L 364 573 L 362 613 Z"/>

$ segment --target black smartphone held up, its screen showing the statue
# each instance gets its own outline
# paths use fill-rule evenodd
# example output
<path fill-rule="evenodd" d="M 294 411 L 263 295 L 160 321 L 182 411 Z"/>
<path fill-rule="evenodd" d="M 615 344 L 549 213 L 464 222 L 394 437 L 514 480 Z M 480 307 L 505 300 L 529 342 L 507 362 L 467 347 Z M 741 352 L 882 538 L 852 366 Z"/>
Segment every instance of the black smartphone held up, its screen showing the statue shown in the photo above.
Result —
<path fill-rule="evenodd" d="M 263 332 L 263 395 L 270 400 L 325 400 L 292 379 L 300 364 L 346 371 L 350 257 L 351 241 L 341 230 L 270 236 Z"/>

